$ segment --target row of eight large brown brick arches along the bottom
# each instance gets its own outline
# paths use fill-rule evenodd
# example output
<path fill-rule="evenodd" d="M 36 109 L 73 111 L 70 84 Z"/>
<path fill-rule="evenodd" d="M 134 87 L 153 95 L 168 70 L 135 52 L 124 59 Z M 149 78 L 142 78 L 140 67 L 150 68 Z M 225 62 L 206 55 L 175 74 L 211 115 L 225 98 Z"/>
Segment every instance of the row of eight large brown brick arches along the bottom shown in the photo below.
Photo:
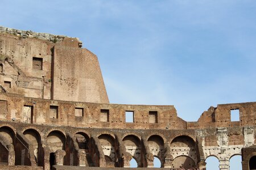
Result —
<path fill-rule="evenodd" d="M 38 165 L 45 169 L 50 169 L 54 164 L 89 167 L 196 168 L 199 162 L 196 142 L 187 135 L 177 136 L 168 144 L 162 136 L 155 134 L 146 139 L 134 134 L 127 134 L 121 138 L 108 133 L 91 136 L 85 131 L 65 134 L 59 129 L 42 134 L 38 129 L 32 128 L 19 134 L 10 126 L 1 126 L 0 164 Z M 29 146 L 26 146 L 26 141 Z M 122 154 L 125 155 L 123 160 Z M 168 155 L 171 155 L 168 158 L 171 160 L 170 164 L 166 162 Z M 10 156 L 14 157 L 11 159 L 14 162 L 11 162 Z"/>

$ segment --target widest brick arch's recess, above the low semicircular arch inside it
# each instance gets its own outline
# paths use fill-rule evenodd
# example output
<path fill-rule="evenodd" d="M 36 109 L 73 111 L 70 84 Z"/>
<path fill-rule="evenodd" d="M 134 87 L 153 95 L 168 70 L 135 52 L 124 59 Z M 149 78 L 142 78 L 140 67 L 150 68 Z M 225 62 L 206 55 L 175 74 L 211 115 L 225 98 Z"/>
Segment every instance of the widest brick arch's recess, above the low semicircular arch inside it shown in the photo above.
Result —
<path fill-rule="evenodd" d="M 197 162 L 197 154 L 196 154 L 195 146 L 196 146 L 196 143 L 191 137 L 188 137 L 186 135 L 181 135 L 172 140 L 170 145 L 171 155 L 173 155 L 174 158 L 178 156 L 188 156 L 193 160 L 193 162 Z"/>

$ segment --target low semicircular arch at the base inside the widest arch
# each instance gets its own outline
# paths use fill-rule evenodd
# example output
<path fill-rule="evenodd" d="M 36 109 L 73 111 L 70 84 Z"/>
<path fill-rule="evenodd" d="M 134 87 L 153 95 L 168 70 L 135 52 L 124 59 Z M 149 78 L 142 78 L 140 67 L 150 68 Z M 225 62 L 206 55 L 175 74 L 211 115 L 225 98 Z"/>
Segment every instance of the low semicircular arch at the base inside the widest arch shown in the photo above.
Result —
<path fill-rule="evenodd" d="M 172 168 L 194 169 L 195 167 L 195 162 L 188 156 L 178 156 L 172 161 Z"/>

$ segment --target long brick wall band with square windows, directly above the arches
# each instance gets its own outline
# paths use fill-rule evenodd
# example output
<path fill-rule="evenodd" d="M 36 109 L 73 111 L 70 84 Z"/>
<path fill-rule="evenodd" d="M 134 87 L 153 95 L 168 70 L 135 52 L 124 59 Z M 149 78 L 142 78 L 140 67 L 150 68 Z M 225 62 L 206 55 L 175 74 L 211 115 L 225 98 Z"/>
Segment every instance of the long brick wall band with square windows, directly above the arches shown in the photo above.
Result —
<path fill-rule="evenodd" d="M 36 99 L 0 93 L 0 120 L 32 124 L 122 129 L 204 129 L 256 125 L 256 103 L 218 105 L 199 121 L 177 117 L 172 105 L 123 105 Z M 230 120 L 230 109 L 240 108 L 240 120 Z M 131 114 L 131 119 L 126 114 Z M 249 121 L 250 120 L 250 121 Z"/>

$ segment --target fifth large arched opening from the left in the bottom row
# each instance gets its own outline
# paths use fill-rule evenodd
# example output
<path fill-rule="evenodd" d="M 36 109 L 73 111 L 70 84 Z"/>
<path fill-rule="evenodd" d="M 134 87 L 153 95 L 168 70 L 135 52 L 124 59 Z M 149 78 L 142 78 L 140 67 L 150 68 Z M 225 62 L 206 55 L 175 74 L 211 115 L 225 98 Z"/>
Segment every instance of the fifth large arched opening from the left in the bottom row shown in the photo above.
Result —
<path fill-rule="evenodd" d="M 109 134 L 102 134 L 98 137 L 101 143 L 102 150 L 105 155 L 105 160 L 110 160 L 106 162 L 107 167 L 114 167 L 115 160 L 115 139 Z M 108 159 L 106 159 L 106 157 Z"/>

